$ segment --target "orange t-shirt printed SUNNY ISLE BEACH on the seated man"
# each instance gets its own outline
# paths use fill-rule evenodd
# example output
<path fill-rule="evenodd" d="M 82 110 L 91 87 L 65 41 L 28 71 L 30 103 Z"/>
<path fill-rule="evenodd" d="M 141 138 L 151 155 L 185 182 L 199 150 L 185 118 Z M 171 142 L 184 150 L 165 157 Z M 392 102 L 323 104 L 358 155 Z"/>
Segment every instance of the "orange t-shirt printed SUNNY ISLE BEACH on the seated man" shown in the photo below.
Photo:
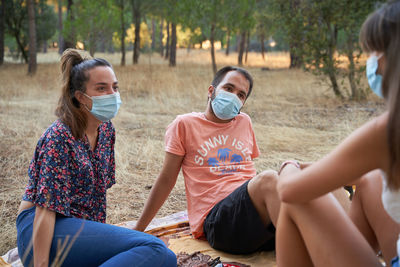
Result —
<path fill-rule="evenodd" d="M 184 156 L 190 229 L 203 235 L 209 211 L 256 175 L 253 159 L 260 154 L 250 117 L 240 113 L 228 123 L 207 120 L 203 113 L 179 115 L 167 127 L 165 150 Z"/>

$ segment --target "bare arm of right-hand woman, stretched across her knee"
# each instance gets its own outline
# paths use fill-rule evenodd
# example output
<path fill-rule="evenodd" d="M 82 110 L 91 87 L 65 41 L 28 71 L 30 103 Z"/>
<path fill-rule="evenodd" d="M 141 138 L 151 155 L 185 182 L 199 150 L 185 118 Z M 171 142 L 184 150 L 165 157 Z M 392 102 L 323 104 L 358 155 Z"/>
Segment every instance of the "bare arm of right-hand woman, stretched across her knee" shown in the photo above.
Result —
<path fill-rule="evenodd" d="M 378 168 L 389 158 L 386 137 L 387 113 L 353 132 L 320 161 L 295 172 L 283 172 L 278 193 L 284 202 L 306 202 Z"/>

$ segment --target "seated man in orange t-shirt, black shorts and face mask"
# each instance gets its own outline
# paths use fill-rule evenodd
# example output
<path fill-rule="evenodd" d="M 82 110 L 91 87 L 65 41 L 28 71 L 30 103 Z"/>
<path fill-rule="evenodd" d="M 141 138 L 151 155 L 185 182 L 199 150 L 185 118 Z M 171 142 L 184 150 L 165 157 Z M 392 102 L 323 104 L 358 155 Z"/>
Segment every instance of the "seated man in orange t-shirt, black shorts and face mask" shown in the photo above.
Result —
<path fill-rule="evenodd" d="M 216 249 L 245 254 L 275 247 L 277 173 L 256 174 L 259 150 L 250 117 L 240 113 L 253 87 L 241 68 L 220 69 L 204 113 L 179 115 L 167 127 L 163 168 L 137 222 L 143 231 L 182 168 L 191 232 Z"/>

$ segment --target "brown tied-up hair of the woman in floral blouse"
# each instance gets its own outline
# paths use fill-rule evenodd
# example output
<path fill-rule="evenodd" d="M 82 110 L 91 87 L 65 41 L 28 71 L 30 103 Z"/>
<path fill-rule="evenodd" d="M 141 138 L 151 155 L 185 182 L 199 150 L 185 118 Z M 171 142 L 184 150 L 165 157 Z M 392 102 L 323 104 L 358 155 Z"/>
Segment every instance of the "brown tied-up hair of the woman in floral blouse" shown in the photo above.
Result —
<path fill-rule="evenodd" d="M 76 139 L 81 139 L 87 127 L 87 116 L 80 109 L 80 103 L 75 98 L 75 92 L 86 92 L 86 82 L 89 80 L 89 70 L 97 66 L 111 67 L 111 64 L 101 58 L 92 58 L 82 50 L 67 49 L 61 56 L 62 91 L 56 116 L 71 129 Z"/>

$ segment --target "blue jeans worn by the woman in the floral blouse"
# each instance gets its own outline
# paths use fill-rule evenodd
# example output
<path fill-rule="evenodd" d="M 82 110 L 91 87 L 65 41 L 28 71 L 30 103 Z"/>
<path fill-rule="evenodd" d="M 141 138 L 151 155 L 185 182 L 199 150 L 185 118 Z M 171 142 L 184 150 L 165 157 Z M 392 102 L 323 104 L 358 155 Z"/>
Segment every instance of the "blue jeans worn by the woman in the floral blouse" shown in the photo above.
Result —
<path fill-rule="evenodd" d="M 32 239 L 34 218 L 35 207 L 22 211 L 17 218 L 18 253 L 24 266 L 33 266 L 33 250 L 29 243 Z M 67 243 L 66 248 L 57 251 L 57 246 L 64 243 Z M 69 245 L 71 247 L 68 250 Z M 50 264 L 60 251 L 66 254 L 63 266 L 177 265 L 175 254 L 152 235 L 57 214 L 50 248 Z M 61 257 L 58 256 L 58 259 Z"/>

